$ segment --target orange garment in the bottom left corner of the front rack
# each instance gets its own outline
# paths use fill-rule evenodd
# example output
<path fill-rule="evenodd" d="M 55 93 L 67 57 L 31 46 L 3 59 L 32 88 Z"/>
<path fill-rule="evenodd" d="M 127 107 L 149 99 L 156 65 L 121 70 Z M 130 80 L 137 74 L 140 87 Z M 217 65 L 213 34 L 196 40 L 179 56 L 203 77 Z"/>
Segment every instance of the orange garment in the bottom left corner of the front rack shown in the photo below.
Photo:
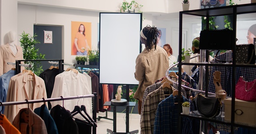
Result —
<path fill-rule="evenodd" d="M 21 132 L 17 130 L 17 128 L 13 126 L 11 122 L 9 122 L 9 120 L 6 118 L 4 114 L 0 115 L 0 118 L 0 126 L 3 126 L 6 134 L 21 134 Z"/>

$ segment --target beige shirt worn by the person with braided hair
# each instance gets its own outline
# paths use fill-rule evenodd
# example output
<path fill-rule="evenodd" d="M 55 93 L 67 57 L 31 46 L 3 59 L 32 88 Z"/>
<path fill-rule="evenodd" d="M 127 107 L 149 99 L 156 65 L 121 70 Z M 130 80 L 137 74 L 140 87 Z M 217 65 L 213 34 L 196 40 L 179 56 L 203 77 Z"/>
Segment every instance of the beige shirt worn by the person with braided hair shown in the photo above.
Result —
<path fill-rule="evenodd" d="M 139 81 L 138 89 L 135 92 L 134 98 L 143 100 L 145 89 L 155 83 L 159 78 L 165 76 L 165 72 L 169 68 L 168 55 L 165 49 L 154 46 L 148 52 L 145 48 L 136 59 L 135 78 Z"/>

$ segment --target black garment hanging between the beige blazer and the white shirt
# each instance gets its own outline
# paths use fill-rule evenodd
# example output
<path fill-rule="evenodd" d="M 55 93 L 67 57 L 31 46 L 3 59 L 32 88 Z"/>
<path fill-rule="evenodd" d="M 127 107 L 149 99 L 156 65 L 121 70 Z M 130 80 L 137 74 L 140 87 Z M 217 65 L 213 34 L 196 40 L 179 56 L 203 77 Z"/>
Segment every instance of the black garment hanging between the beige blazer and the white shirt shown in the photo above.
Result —
<path fill-rule="evenodd" d="M 55 82 L 55 77 L 59 74 L 59 69 L 46 69 L 43 73 L 40 73 L 39 77 L 41 77 L 45 83 L 47 98 L 51 98 L 52 90 Z M 48 109 L 50 110 L 52 105 L 48 102 Z"/>

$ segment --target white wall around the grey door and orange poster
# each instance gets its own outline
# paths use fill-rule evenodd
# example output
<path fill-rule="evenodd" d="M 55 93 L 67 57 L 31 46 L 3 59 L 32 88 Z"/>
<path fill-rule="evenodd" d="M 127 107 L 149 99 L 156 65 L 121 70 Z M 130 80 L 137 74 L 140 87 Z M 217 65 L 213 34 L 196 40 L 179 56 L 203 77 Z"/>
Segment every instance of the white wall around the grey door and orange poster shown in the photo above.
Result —
<path fill-rule="evenodd" d="M 18 4 L 17 34 L 21 35 L 25 31 L 33 35 L 34 24 L 61 25 L 64 27 L 64 41 L 62 42 L 64 57 L 62 58 L 67 63 L 75 63 L 75 56 L 71 56 L 71 21 L 91 22 L 91 43 L 92 48 L 95 48 L 98 44 L 97 23 L 99 20 L 99 12 Z M 18 41 L 19 39 L 20 37 Z"/>

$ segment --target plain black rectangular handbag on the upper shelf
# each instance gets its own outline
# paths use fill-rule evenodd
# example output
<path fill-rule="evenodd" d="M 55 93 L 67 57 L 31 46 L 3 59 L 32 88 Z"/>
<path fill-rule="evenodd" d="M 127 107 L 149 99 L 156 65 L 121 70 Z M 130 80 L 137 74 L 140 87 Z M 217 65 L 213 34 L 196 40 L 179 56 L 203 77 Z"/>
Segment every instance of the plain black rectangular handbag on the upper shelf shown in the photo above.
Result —
<path fill-rule="evenodd" d="M 232 30 L 203 30 L 200 32 L 199 49 L 231 50 Z"/>

